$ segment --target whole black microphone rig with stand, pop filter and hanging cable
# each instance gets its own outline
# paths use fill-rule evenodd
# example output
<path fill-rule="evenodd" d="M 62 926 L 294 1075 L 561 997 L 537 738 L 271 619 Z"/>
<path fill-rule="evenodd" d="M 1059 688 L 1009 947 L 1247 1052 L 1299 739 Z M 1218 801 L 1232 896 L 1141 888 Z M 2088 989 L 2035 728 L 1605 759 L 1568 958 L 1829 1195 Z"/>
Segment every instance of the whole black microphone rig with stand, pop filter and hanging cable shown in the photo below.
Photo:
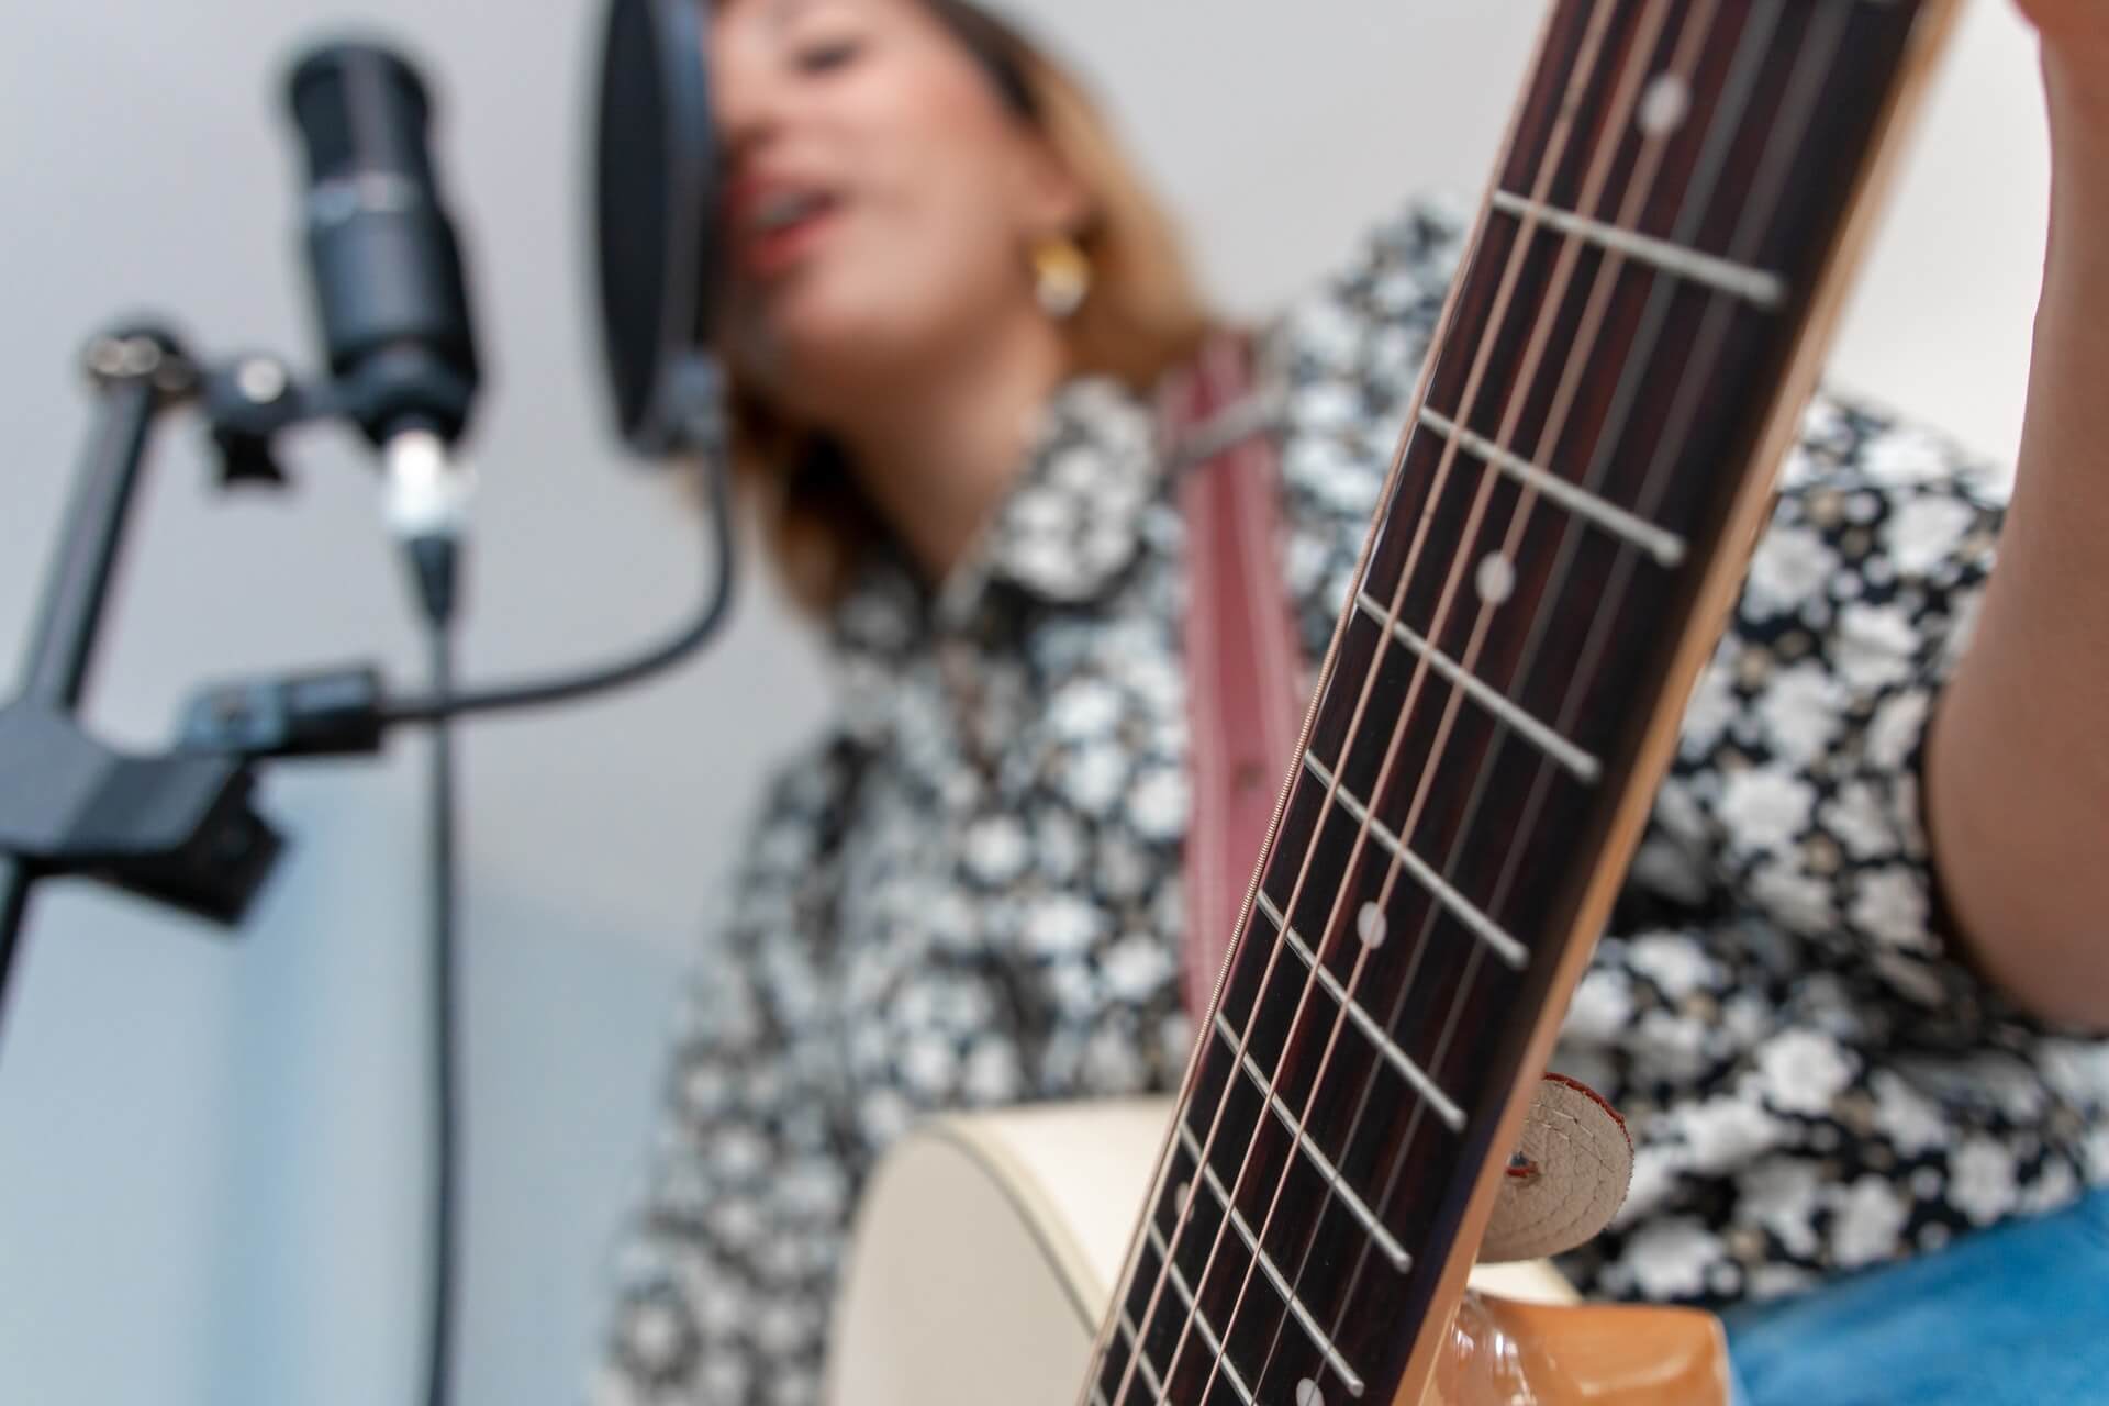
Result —
<path fill-rule="evenodd" d="M 335 379 L 302 384 L 268 356 L 200 371 L 158 327 L 95 337 L 86 352 L 99 401 L 95 430 L 38 605 L 21 696 L 0 706 L 0 1020 L 36 883 L 93 877 L 232 927 L 283 847 L 251 807 L 262 761 L 375 753 L 392 725 L 432 729 L 434 1254 L 426 1400 L 434 1406 L 451 1391 L 456 1284 L 449 727 L 456 719 L 561 704 L 660 675 L 715 639 L 734 594 L 723 388 L 700 348 L 709 280 L 694 276 L 709 228 L 707 177 L 715 171 L 700 57 L 702 36 L 679 0 L 618 0 L 603 74 L 603 122 L 612 114 L 616 124 L 601 137 L 601 293 L 624 436 L 654 457 L 694 457 L 709 489 L 713 561 L 702 605 L 681 630 L 591 668 L 456 687 L 447 626 L 460 489 L 447 483 L 443 449 L 466 424 L 477 390 L 460 255 L 422 150 L 428 116 L 422 82 L 388 51 L 340 44 L 310 55 L 291 84 L 310 158 L 310 261 Z M 635 80 L 639 67 L 652 82 Z M 639 122 L 656 131 L 631 131 Z M 669 188 L 641 192 L 643 198 L 628 192 L 643 171 L 637 152 L 664 164 L 660 177 Z M 610 226 L 610 211 L 624 207 L 658 226 L 643 242 L 626 228 L 635 219 Z M 635 261 L 645 249 L 656 249 L 662 263 L 652 278 L 637 278 Z M 432 626 L 428 694 L 390 698 L 380 670 L 354 664 L 205 689 L 183 715 L 177 748 L 165 755 L 124 757 L 80 727 L 148 436 L 162 411 L 188 401 L 202 403 L 224 483 L 283 485 L 272 441 L 306 419 L 348 419 L 384 447 L 394 527 L 409 548 Z"/>

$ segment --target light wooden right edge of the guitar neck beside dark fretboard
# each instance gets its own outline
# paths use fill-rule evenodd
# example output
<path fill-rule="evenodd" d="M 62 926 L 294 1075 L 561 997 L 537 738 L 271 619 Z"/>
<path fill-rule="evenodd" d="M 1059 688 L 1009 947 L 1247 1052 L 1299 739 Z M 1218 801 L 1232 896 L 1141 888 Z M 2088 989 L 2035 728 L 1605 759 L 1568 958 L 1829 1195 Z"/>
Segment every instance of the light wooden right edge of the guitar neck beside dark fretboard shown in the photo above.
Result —
<path fill-rule="evenodd" d="M 1816 390 L 1816 382 L 1822 375 L 1831 341 L 1837 333 L 1839 314 L 1845 308 L 1854 278 L 1866 257 L 1866 245 L 1873 238 L 1888 204 L 1888 192 L 1894 185 L 1896 167 L 1907 137 L 1911 135 L 1915 118 L 1926 103 L 1928 86 L 1959 17 L 1961 0 L 1928 0 L 1911 36 L 1911 53 L 1898 74 L 1890 105 L 1881 114 L 1873 154 L 1854 185 L 1852 209 L 1847 211 L 1845 223 L 1833 242 L 1831 255 L 1822 266 L 1822 274 L 1816 280 L 1807 323 L 1795 341 L 1786 375 L 1780 382 L 1780 392 L 1774 396 L 1772 413 L 1767 415 L 1765 430 L 1759 436 L 1753 464 L 1763 466 L 1763 472 L 1748 472 L 1736 493 L 1736 500 L 1731 502 L 1721 542 L 1736 546 L 1736 550 L 1715 552 L 1715 559 L 1708 563 L 1706 575 L 1700 582 L 1691 628 L 1685 630 L 1685 639 L 1670 662 L 1668 683 L 1662 689 L 1656 712 L 1647 723 L 1641 750 L 1634 759 L 1632 780 L 1607 833 L 1605 862 L 1599 866 L 1590 887 L 1582 896 L 1575 923 L 1567 936 L 1565 959 L 1552 978 L 1550 997 L 1544 1005 L 1544 1018 L 1531 1033 L 1525 1060 L 1516 1075 L 1516 1086 L 1508 1096 L 1508 1111 L 1495 1132 L 1495 1147 L 1514 1147 L 1516 1138 L 1523 1134 L 1523 1117 L 1531 1102 L 1529 1092 L 1535 1088 L 1546 1065 L 1552 1060 L 1552 1048 L 1559 1041 L 1561 1022 L 1567 1016 L 1567 1003 L 1573 999 L 1573 991 L 1580 984 L 1582 974 L 1588 970 L 1590 955 L 1597 946 L 1597 934 L 1601 934 L 1603 923 L 1609 921 L 1611 904 L 1626 881 L 1626 866 L 1632 862 L 1641 828 L 1653 809 L 1656 784 L 1668 767 L 1672 748 L 1677 746 L 1691 687 L 1698 683 L 1700 668 L 1704 668 L 1719 643 L 1721 628 L 1725 628 L 1727 616 L 1742 590 L 1748 554 L 1755 550 L 1757 538 L 1772 516 L 1774 483 L 1778 479 L 1780 464 L 1799 434 L 1801 417 Z M 1447 316 L 1449 312 L 1445 312 L 1445 318 Z M 1426 379 L 1421 394 L 1426 394 Z M 1419 405 L 1419 396 L 1415 396 L 1415 405 Z M 1464 1294 L 1466 1275 L 1472 1267 L 1468 1248 L 1476 1246 L 1487 1233 L 1487 1221 L 1493 1216 L 1493 1202 L 1499 1185 L 1499 1164 L 1489 1164 L 1481 1170 L 1478 1185 L 1472 1189 L 1470 1202 L 1466 1202 L 1464 1221 L 1457 1231 L 1455 1244 L 1459 1252 L 1451 1254 L 1445 1265 L 1432 1301 L 1443 1305 L 1445 1311 L 1430 1313 L 1428 1322 L 1419 1324 L 1413 1341 L 1413 1355 L 1407 1360 L 1407 1372 L 1400 1379 L 1400 1389 L 1392 1406 L 1424 1406 L 1426 1402 L 1428 1385 L 1434 1381 L 1436 1364 L 1440 1362 L 1443 1347 L 1449 1336 L 1447 1305 L 1457 1303 Z"/>

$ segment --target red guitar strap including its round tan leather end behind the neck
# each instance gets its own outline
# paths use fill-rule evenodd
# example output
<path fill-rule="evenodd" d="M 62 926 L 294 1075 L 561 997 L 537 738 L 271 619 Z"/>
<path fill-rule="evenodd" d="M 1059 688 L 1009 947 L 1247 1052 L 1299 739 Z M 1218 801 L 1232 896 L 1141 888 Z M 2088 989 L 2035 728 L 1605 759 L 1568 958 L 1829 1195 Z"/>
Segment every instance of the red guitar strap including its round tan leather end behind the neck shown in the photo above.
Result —
<path fill-rule="evenodd" d="M 1185 683 L 1192 824 L 1181 991 L 1200 1022 L 1230 961 L 1246 885 L 1301 736 L 1303 651 L 1278 561 L 1276 415 L 1246 335 L 1221 333 L 1166 377 L 1158 424 L 1185 464 Z M 1546 1075 L 1525 1119 L 1481 1261 L 1529 1261 L 1592 1239 L 1626 1199 L 1632 1140 L 1594 1090 Z"/>

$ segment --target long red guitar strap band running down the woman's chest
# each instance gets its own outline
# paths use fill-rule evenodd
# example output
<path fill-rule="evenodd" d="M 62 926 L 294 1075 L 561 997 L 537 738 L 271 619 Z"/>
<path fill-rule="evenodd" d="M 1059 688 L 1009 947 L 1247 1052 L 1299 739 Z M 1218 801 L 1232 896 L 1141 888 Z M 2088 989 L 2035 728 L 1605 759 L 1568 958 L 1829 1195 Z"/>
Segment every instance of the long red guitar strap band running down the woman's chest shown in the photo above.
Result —
<path fill-rule="evenodd" d="M 1221 335 L 1160 401 L 1166 443 L 1208 438 L 1257 401 L 1253 346 Z M 1194 820 L 1185 847 L 1187 1012 L 1206 1016 L 1230 957 L 1246 883 L 1274 820 L 1276 788 L 1301 731 L 1303 658 L 1278 561 L 1278 453 L 1272 426 L 1185 470 L 1185 677 Z"/>

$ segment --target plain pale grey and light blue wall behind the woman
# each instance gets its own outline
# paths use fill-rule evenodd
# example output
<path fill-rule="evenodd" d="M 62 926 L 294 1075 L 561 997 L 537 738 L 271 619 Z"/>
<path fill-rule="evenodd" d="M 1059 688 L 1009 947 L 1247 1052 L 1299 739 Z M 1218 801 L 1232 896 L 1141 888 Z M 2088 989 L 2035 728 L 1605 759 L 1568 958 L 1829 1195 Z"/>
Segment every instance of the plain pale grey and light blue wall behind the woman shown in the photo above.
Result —
<path fill-rule="evenodd" d="M 356 6 L 356 8 L 348 8 Z M 1095 76 L 1213 289 L 1265 310 L 1424 185 L 1476 194 L 1542 0 L 1012 0 Z M 346 27 L 424 61 L 489 390 L 470 677 L 654 637 L 698 590 L 685 500 L 620 462 L 586 297 L 595 0 L 0 6 L 0 691 L 86 401 L 80 339 L 152 308 L 202 354 L 312 360 L 287 55 Z M 2033 46 L 1970 4 L 1833 379 L 2010 460 L 2048 162 Z M 160 744 L 213 677 L 418 637 L 350 436 L 221 497 L 171 422 L 91 717 Z M 643 1172 L 660 1039 L 770 757 L 823 717 L 753 582 L 673 681 L 466 729 L 466 1277 L 458 1400 L 580 1395 Z M 240 940 L 49 885 L 0 1024 L 0 1400 L 409 1402 L 424 1328 L 422 767 L 280 769 L 291 833 Z"/>

